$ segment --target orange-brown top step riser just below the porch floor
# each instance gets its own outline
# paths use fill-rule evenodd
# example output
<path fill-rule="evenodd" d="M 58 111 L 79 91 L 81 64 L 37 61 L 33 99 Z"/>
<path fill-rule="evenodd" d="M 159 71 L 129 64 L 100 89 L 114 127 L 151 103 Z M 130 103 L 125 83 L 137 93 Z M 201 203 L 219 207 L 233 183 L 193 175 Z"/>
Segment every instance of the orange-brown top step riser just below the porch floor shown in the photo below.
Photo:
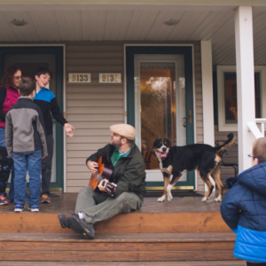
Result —
<path fill-rule="evenodd" d="M 62 229 L 59 213 L 0 213 L 0 233 L 73 233 Z M 220 213 L 141 213 L 116 215 L 95 225 L 98 233 L 230 232 Z"/>

